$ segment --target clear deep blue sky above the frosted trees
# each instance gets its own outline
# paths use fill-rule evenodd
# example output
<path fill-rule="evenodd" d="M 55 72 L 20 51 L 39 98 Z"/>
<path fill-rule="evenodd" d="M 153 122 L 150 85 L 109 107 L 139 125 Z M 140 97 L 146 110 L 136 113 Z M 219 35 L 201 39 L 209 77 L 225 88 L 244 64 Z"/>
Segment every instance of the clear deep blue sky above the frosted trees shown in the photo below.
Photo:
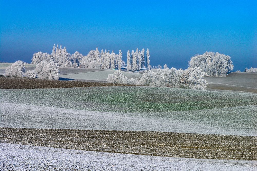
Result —
<path fill-rule="evenodd" d="M 257 67 L 255 1 L 0 0 L 0 61 L 30 63 L 53 44 L 72 54 L 149 48 L 151 64 L 187 68 L 190 57 L 230 55 L 235 70 Z"/>

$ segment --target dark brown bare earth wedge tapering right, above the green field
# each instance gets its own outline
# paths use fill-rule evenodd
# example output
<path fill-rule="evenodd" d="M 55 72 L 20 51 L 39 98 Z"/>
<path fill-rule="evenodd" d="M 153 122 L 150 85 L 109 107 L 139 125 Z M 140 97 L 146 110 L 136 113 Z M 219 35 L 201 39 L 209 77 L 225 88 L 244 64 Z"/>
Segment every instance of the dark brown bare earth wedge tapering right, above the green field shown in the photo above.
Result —
<path fill-rule="evenodd" d="M 27 88 L 70 88 L 70 87 L 95 87 L 95 86 L 122 86 L 123 84 L 82 82 L 82 81 L 59 81 L 13 78 L 0 76 L 0 89 L 27 89 Z M 128 85 L 126 85 L 128 86 Z"/>

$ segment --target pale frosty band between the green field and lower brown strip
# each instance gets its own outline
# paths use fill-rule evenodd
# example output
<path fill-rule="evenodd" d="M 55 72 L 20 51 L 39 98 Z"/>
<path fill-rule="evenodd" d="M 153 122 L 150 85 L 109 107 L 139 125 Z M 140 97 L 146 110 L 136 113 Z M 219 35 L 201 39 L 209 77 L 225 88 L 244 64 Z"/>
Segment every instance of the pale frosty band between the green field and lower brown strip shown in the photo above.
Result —
<path fill-rule="evenodd" d="M 115 113 L 0 103 L 0 111 L 0 127 L 257 135 L 257 106 L 166 113 Z"/>

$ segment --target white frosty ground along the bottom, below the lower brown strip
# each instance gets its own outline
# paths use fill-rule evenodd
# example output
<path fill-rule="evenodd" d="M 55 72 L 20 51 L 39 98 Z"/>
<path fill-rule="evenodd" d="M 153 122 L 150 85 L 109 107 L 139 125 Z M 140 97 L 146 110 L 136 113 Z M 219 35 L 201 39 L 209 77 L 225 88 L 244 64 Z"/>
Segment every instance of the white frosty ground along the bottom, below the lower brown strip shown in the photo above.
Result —
<path fill-rule="evenodd" d="M 256 170 L 253 160 L 116 154 L 0 143 L 0 170 Z"/>

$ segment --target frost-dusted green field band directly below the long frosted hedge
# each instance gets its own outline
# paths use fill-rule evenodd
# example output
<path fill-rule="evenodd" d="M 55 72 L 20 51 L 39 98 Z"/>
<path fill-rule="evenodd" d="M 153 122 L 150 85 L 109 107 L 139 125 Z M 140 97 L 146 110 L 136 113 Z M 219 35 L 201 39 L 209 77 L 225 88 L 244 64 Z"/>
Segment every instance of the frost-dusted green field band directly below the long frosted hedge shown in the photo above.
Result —
<path fill-rule="evenodd" d="M 146 86 L 0 89 L 0 102 L 103 112 L 171 112 L 257 105 L 257 94 Z"/>

